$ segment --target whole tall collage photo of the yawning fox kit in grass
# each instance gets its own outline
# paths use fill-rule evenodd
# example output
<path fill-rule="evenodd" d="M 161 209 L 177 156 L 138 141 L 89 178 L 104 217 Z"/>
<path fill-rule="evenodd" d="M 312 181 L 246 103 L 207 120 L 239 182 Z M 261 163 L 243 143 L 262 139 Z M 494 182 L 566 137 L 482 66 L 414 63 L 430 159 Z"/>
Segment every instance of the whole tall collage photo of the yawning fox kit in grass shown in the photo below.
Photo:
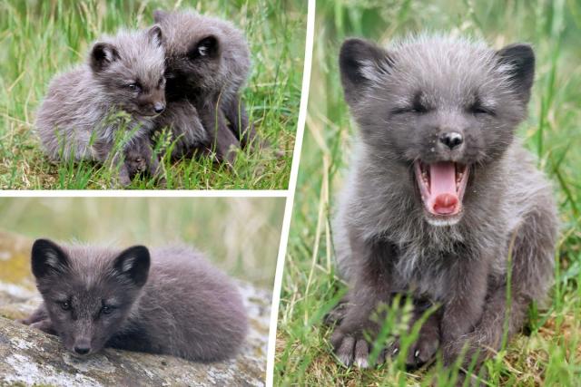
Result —
<path fill-rule="evenodd" d="M 578 383 L 578 14 L 317 2 L 274 385 Z"/>

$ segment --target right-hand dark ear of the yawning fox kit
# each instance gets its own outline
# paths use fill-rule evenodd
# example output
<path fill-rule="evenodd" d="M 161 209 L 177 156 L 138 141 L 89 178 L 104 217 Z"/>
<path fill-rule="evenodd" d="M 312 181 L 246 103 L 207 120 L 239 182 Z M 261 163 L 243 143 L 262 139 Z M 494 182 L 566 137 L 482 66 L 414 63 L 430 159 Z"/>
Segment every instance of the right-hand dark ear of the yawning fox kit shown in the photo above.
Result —
<path fill-rule="evenodd" d="M 535 80 L 535 53 L 529 44 L 510 44 L 497 52 L 498 64 L 507 66 L 512 87 L 527 104 Z"/>

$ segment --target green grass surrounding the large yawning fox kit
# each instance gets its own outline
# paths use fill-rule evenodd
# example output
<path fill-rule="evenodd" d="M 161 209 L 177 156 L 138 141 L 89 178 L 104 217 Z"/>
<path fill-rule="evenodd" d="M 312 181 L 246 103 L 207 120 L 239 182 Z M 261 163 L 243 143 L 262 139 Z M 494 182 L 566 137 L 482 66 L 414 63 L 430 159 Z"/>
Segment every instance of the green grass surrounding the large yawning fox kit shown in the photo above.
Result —
<path fill-rule="evenodd" d="M 552 180 L 562 221 L 555 285 L 528 330 L 487 361 L 487 385 L 577 386 L 581 381 L 581 8 L 572 1 L 319 1 L 310 108 L 284 268 L 275 383 L 279 385 L 449 385 L 434 367 L 408 372 L 400 360 L 360 371 L 332 356 L 322 316 L 346 285 L 335 276 L 330 213 L 342 186 L 356 128 L 342 98 L 337 57 L 347 36 L 388 43 L 422 30 L 473 34 L 500 48 L 529 42 L 537 79 L 519 130 Z M 398 323 L 388 324 L 391 333 Z M 388 334 L 389 335 L 389 334 Z M 413 338 L 413 334 L 408 339 Z M 387 337 L 387 336 L 386 336 Z"/>

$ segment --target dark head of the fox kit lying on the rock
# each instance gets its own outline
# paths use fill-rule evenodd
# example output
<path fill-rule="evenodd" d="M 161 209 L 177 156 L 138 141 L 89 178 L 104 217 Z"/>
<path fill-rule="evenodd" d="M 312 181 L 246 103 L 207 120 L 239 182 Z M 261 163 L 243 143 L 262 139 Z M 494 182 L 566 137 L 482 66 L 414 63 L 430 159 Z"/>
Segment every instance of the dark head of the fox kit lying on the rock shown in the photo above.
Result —
<path fill-rule="evenodd" d="M 146 247 L 121 252 L 38 239 L 32 271 L 54 331 L 72 353 L 100 351 L 119 332 L 147 281 Z"/>

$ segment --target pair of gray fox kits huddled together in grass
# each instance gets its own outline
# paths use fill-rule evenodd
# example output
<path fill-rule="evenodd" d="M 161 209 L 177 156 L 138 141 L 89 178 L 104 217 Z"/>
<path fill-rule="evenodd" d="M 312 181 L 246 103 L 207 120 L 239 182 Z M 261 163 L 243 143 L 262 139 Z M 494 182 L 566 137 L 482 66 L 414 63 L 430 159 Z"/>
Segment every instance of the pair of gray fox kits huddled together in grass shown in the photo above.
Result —
<path fill-rule="evenodd" d="M 52 160 L 110 163 L 128 185 L 161 172 L 153 131 L 170 128 L 173 159 L 212 151 L 231 164 L 252 142 L 240 96 L 251 63 L 243 34 L 189 12 L 154 19 L 147 31 L 103 38 L 87 64 L 51 82 L 35 129 Z"/>

